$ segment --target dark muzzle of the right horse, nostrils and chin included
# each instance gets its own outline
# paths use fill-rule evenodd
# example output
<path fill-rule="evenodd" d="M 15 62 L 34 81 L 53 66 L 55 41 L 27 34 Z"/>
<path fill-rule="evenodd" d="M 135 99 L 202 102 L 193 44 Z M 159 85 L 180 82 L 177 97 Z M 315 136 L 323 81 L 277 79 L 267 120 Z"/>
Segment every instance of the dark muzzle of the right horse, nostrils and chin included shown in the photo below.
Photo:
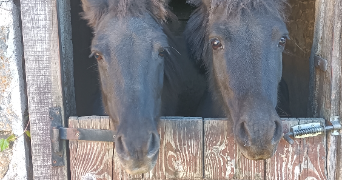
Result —
<path fill-rule="evenodd" d="M 270 158 L 282 137 L 281 120 L 241 122 L 236 126 L 235 138 L 242 153 L 249 159 Z"/>

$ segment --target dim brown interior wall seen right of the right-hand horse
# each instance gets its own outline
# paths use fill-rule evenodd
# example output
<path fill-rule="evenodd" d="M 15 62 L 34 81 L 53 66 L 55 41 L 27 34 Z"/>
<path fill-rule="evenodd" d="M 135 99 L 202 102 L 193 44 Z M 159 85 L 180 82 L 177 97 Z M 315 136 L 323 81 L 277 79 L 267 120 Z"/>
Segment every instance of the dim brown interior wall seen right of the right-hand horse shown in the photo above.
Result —
<path fill-rule="evenodd" d="M 283 53 L 283 78 L 290 95 L 293 117 L 307 117 L 309 57 L 314 33 L 315 0 L 289 0 L 287 28 L 290 38 Z"/>

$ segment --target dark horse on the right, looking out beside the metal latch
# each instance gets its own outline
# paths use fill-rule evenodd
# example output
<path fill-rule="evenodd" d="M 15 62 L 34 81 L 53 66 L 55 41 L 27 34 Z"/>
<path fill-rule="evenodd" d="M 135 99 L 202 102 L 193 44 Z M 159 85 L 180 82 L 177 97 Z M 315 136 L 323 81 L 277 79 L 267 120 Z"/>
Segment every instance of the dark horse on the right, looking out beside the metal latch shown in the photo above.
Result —
<path fill-rule="evenodd" d="M 288 30 L 286 0 L 190 0 L 184 32 L 190 56 L 204 64 L 208 91 L 199 116 L 227 117 L 248 159 L 272 157 L 282 138 L 275 110 Z"/>

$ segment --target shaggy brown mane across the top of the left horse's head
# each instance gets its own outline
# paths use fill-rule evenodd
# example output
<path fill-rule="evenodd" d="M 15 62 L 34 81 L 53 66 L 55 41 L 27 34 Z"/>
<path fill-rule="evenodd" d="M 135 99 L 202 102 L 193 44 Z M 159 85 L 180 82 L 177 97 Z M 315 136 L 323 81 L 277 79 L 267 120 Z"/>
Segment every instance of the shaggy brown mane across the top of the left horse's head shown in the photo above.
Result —
<path fill-rule="evenodd" d="M 166 21 L 169 17 L 169 0 L 82 0 L 84 12 L 81 16 L 95 27 L 106 14 L 115 17 L 141 16 L 146 12 L 157 20 Z"/>

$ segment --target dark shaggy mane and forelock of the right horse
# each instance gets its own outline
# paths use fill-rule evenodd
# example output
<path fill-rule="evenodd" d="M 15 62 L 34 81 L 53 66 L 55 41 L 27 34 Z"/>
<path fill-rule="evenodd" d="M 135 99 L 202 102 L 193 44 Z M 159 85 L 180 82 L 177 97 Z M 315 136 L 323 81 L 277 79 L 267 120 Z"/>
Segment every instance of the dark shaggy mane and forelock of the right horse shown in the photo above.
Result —
<path fill-rule="evenodd" d="M 210 2 L 209 2 L 210 1 Z M 192 13 L 185 29 L 188 47 L 193 59 L 201 61 L 207 54 L 207 25 L 210 13 L 215 13 L 218 8 L 224 8 L 227 20 L 239 18 L 243 11 L 258 10 L 263 13 L 271 13 L 283 20 L 287 0 L 189 0 L 190 4 L 197 6 Z"/>

